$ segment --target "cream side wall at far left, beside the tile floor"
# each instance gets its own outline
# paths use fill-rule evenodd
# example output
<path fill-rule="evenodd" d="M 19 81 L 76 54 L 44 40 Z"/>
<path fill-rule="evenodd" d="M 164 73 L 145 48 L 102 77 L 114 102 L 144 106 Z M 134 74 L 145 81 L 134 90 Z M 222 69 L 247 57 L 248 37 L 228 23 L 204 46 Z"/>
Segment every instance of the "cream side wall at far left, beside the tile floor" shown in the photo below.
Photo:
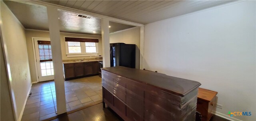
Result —
<path fill-rule="evenodd" d="M 20 24 L 18 19 L 2 1 L 1 19 L 2 36 L 6 42 L 11 72 L 10 77 L 18 114 L 17 119 L 21 119 L 31 85 L 25 30 L 22 24 Z"/>

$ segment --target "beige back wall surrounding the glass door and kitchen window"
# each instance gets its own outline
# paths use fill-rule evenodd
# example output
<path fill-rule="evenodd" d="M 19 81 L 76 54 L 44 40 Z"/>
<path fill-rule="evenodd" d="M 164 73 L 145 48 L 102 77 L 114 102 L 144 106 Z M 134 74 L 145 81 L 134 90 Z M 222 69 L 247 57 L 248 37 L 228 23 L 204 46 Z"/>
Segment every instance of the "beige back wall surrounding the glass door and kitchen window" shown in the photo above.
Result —
<path fill-rule="evenodd" d="M 25 30 L 26 33 L 26 42 L 27 42 L 27 49 L 28 49 L 28 59 L 29 59 L 29 67 L 31 71 L 31 79 L 32 82 L 36 82 L 36 68 L 34 63 L 34 54 L 33 54 L 33 45 L 32 45 L 32 37 L 36 38 L 50 38 L 49 32 L 46 31 L 37 31 L 37 30 Z M 61 52 L 62 52 L 62 60 L 78 60 L 83 58 L 90 58 L 90 57 L 74 57 L 68 58 L 66 55 L 66 48 L 65 48 L 65 36 L 66 37 L 80 37 L 80 38 L 98 38 L 98 55 L 102 55 L 102 41 L 101 36 L 94 36 L 94 35 L 84 35 L 84 34 L 71 34 L 71 33 L 60 33 L 60 41 L 61 41 Z M 94 57 L 92 57 L 94 58 Z"/>

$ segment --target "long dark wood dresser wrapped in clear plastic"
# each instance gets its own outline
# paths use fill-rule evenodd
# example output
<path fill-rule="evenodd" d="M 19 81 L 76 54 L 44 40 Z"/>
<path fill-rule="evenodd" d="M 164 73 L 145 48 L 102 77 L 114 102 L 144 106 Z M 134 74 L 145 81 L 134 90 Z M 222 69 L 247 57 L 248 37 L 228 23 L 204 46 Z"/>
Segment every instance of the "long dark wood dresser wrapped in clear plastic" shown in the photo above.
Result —
<path fill-rule="evenodd" d="M 200 85 L 152 71 L 102 68 L 103 106 L 125 121 L 195 121 Z"/>

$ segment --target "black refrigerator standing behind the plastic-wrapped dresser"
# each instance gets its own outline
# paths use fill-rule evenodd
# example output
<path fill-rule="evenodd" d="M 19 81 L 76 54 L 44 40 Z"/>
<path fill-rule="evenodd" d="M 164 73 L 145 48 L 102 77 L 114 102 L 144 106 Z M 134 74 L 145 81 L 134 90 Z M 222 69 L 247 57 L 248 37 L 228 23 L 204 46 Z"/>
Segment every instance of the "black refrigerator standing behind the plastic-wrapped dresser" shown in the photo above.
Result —
<path fill-rule="evenodd" d="M 110 66 L 135 68 L 135 44 L 110 44 Z"/>

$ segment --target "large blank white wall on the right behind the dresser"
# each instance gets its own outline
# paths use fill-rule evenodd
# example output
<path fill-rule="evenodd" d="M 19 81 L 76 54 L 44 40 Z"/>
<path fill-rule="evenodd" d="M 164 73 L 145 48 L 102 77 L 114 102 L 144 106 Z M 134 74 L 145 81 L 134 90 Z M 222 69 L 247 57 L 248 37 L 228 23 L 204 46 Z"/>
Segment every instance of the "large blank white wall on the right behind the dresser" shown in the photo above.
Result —
<path fill-rule="evenodd" d="M 256 119 L 256 1 L 233 2 L 147 24 L 144 68 L 218 91 L 217 111 Z"/>

